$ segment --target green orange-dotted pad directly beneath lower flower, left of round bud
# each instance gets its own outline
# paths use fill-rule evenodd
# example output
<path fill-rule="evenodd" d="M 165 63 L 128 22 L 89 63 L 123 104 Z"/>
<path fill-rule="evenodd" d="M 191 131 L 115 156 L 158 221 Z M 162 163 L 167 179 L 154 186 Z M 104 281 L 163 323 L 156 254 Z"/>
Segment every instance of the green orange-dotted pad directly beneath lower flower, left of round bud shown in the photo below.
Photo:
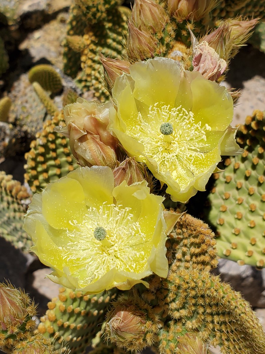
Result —
<path fill-rule="evenodd" d="M 41 318 L 38 331 L 51 340 L 54 337 L 54 349 L 61 349 L 61 353 L 71 350 L 72 354 L 82 354 L 101 330 L 116 292 L 116 289 L 112 289 L 84 296 L 81 291 L 61 288 L 59 298 L 48 303 L 48 310 Z"/>

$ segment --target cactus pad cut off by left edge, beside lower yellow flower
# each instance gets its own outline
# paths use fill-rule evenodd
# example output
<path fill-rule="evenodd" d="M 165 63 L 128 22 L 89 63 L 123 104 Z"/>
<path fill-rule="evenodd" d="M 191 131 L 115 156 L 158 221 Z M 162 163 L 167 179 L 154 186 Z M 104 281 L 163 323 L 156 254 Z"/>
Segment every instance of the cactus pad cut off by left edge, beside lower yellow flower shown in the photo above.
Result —
<path fill-rule="evenodd" d="M 28 252 L 32 241 L 23 230 L 24 215 L 31 196 L 27 189 L 11 175 L 0 172 L 0 234 L 13 246 Z"/>

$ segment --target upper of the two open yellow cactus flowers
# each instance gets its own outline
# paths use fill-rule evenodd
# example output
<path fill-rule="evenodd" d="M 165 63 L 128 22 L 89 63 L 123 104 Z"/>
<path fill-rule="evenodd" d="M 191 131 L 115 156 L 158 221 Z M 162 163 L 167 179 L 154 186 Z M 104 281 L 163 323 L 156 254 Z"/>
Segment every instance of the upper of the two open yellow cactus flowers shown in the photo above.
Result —
<path fill-rule="evenodd" d="M 242 149 L 230 126 L 233 101 L 225 87 L 169 58 L 130 67 L 112 89 L 110 129 L 128 155 L 167 184 L 173 201 L 186 202 L 216 170 L 220 155 Z"/>

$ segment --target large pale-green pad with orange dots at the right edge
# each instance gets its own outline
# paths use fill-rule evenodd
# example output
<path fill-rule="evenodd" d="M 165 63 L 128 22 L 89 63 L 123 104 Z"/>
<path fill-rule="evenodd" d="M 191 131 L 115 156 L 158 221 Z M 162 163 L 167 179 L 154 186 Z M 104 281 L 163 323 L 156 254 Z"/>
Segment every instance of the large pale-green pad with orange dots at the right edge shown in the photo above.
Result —
<path fill-rule="evenodd" d="M 218 255 L 239 264 L 265 266 L 265 118 L 254 111 L 237 132 L 245 150 L 216 173 L 208 196 L 207 219 L 216 226 Z"/>

